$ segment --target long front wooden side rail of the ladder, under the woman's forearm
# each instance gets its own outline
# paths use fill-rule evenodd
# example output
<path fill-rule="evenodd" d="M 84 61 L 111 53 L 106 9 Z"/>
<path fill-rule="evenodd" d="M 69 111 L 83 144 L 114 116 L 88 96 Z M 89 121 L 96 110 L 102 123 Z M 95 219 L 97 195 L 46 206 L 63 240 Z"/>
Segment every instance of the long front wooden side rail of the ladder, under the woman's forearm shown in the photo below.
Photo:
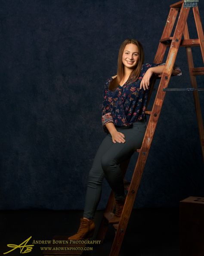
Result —
<path fill-rule="evenodd" d="M 155 133 L 155 128 L 156 128 L 158 118 L 161 112 L 161 107 L 164 101 L 165 92 L 163 91 L 163 88 L 164 87 L 167 88 L 168 86 L 188 14 L 189 14 L 189 8 L 183 8 L 183 4 L 182 4 L 182 8 L 181 8 L 179 19 L 174 32 L 173 40 L 170 45 L 170 51 L 167 57 L 167 62 L 164 67 L 164 71 L 158 87 L 156 99 L 152 108 L 147 129 L 145 132 L 145 137 L 142 142 L 142 147 L 139 152 L 139 157 L 133 172 L 133 177 L 130 183 L 130 188 L 127 194 L 124 209 L 121 214 L 121 220 L 119 222 L 109 256 L 118 256 L 121 249 L 121 245 L 124 239 L 124 234 L 127 229 L 127 224 L 130 219 L 130 214 L 135 201 L 136 193 L 137 193 L 139 183 L 142 178 L 142 173 L 145 167 L 145 163 L 148 157 L 148 151 L 151 146 L 151 141 Z"/>

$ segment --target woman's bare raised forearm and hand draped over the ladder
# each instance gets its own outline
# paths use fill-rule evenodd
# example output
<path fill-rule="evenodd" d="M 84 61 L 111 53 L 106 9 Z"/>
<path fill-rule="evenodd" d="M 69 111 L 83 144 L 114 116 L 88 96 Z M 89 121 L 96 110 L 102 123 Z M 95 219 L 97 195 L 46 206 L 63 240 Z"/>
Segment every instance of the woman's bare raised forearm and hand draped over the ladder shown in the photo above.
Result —
<path fill-rule="evenodd" d="M 142 87 L 143 87 L 144 90 L 148 89 L 149 81 L 150 81 L 151 76 L 153 74 L 162 74 L 163 71 L 164 71 L 164 65 L 159 65 L 159 66 L 156 66 L 156 67 L 148 68 L 148 70 L 144 74 L 144 77 L 142 78 L 142 81 L 140 83 L 139 88 L 142 89 Z M 181 73 L 181 70 L 176 69 L 176 65 L 175 65 L 175 67 L 173 67 L 173 70 L 172 70 L 172 75 L 176 76 L 179 73 Z"/>

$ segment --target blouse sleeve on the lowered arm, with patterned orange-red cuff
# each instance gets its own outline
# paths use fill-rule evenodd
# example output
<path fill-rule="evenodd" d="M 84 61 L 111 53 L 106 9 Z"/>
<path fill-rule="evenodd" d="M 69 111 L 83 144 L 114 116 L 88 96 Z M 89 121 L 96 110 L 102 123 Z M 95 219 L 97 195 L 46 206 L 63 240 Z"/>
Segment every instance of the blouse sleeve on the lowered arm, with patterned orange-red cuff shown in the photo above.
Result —
<path fill-rule="evenodd" d="M 114 123 L 112 115 L 111 115 L 111 110 L 108 102 L 108 85 L 109 85 L 110 80 L 106 81 L 104 90 L 103 90 L 103 103 L 102 103 L 102 125 L 103 127 L 107 123 Z M 104 127 L 105 128 L 105 127 Z"/>

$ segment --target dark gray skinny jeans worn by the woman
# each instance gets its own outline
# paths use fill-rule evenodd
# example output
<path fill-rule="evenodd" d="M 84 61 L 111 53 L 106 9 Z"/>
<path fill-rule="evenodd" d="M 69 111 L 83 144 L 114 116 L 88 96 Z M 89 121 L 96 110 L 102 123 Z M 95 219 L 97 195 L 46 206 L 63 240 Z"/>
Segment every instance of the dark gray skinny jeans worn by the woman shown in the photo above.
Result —
<path fill-rule="evenodd" d="M 102 181 L 105 177 L 114 192 L 115 199 L 124 199 L 124 181 L 120 163 L 130 158 L 136 149 L 142 146 L 147 126 L 145 121 L 133 123 L 133 127 L 116 127 L 117 131 L 125 135 L 125 143 L 113 143 L 108 133 L 93 160 L 88 176 L 87 193 L 83 217 L 93 219 L 102 192 Z"/>

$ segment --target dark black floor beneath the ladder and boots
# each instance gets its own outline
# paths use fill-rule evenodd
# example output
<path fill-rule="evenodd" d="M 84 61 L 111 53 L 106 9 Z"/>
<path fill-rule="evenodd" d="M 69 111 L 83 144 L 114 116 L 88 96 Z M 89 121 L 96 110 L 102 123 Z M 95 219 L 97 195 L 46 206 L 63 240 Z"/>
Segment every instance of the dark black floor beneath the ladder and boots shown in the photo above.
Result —
<path fill-rule="evenodd" d="M 96 214 L 96 232 L 102 212 L 97 211 Z M 72 235 L 78 229 L 82 211 L 0 211 L 0 215 L 0 255 L 20 256 L 25 248 L 3 254 L 13 249 L 7 244 L 19 245 L 31 237 L 29 245 L 33 240 Z M 108 256 L 113 239 L 114 229 L 110 226 L 104 243 L 94 246 L 91 253 L 82 255 Z M 40 246 L 35 244 L 31 252 L 23 255 L 42 256 Z M 179 208 L 133 209 L 119 255 L 179 256 Z"/>

